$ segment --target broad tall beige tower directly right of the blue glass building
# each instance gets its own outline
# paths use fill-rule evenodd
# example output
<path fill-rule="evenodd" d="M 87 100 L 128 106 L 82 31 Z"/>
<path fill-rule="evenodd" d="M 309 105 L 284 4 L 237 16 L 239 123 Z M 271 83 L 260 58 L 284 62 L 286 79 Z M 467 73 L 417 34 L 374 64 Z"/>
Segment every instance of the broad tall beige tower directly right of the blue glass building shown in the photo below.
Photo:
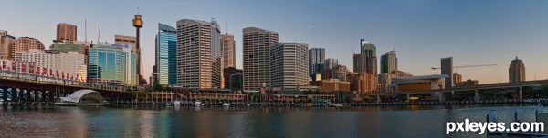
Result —
<path fill-rule="evenodd" d="M 221 87 L 221 31 L 216 21 L 177 21 L 177 84 Z"/>

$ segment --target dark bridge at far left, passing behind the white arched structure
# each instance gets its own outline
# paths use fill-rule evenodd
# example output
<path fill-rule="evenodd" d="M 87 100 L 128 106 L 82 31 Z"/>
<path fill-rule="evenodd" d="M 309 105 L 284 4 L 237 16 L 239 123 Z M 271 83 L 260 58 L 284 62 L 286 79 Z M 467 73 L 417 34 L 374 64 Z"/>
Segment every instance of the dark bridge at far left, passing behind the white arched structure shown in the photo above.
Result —
<path fill-rule="evenodd" d="M 127 87 L 91 85 L 61 80 L 63 83 L 37 81 L 37 79 L 0 77 L 0 100 L 17 103 L 52 103 L 81 89 L 99 92 L 108 101 L 129 99 Z"/>

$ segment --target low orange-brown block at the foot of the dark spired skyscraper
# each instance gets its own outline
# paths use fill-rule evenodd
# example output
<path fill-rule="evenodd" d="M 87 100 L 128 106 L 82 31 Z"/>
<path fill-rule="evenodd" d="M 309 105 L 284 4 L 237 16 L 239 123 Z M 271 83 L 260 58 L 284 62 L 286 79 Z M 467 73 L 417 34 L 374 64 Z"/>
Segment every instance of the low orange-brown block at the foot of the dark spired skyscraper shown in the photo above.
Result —
<path fill-rule="evenodd" d="M 358 94 L 376 93 L 377 76 L 369 73 L 349 73 L 346 79 L 350 82 L 350 90 Z"/>

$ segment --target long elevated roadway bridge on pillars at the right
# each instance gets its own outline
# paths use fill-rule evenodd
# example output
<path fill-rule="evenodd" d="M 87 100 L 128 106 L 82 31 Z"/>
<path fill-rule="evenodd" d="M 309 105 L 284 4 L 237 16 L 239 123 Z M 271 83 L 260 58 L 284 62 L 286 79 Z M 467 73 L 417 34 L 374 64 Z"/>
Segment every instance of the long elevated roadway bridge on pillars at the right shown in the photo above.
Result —
<path fill-rule="evenodd" d="M 474 91 L 475 99 L 479 100 L 479 93 L 486 92 L 486 90 L 497 90 L 497 89 L 518 89 L 519 90 L 519 99 L 522 100 L 522 87 L 524 86 L 540 86 L 548 84 L 548 80 L 536 80 L 536 81 L 525 81 L 518 83 L 497 83 L 497 84 L 479 84 L 479 85 L 470 85 L 470 86 L 454 86 L 447 89 L 437 89 L 437 90 L 424 90 L 424 91 L 399 91 L 393 93 L 370 93 L 364 95 L 377 96 L 377 99 L 381 95 L 395 95 L 395 94 L 433 94 L 438 93 L 443 95 L 445 92 L 450 92 L 452 95 L 455 92 L 461 91 Z M 443 98 L 442 98 L 443 99 Z"/>

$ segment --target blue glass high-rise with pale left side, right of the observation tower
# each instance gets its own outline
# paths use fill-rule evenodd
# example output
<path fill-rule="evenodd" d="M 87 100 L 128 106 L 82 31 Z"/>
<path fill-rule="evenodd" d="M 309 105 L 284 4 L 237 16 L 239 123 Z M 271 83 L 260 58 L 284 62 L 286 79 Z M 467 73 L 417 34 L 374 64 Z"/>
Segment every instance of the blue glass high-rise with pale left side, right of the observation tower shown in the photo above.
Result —
<path fill-rule="evenodd" d="M 155 55 L 157 84 L 177 84 L 177 29 L 158 23 Z"/>

